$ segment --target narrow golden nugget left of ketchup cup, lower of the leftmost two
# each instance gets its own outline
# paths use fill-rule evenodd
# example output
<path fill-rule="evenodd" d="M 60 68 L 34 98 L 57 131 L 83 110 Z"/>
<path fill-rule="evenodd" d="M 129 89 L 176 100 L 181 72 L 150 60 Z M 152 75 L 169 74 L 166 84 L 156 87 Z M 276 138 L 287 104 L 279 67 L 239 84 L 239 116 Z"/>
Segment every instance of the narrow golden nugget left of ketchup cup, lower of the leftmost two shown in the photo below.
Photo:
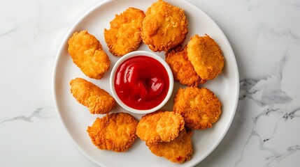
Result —
<path fill-rule="evenodd" d="M 76 78 L 70 81 L 70 86 L 73 97 L 93 114 L 108 113 L 115 108 L 115 99 L 90 81 Z"/>

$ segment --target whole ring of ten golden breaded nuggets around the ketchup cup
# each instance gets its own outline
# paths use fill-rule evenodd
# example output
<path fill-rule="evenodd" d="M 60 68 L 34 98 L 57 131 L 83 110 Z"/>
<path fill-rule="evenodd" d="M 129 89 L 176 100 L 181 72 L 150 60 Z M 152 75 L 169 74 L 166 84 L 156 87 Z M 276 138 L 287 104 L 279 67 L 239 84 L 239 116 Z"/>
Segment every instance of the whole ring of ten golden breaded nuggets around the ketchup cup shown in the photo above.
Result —
<path fill-rule="evenodd" d="M 86 79 L 70 81 L 71 94 L 97 118 L 87 133 L 101 150 L 125 152 L 136 138 L 141 138 L 149 150 L 169 161 L 183 163 L 192 156 L 192 131 L 206 129 L 217 122 L 221 102 L 208 88 L 199 87 L 222 72 L 224 56 L 217 42 L 205 34 L 190 38 L 188 21 L 183 9 L 158 0 L 144 13 L 129 7 L 104 29 L 106 45 L 113 56 L 136 51 L 143 43 L 152 51 L 165 51 L 176 81 L 183 84 L 174 98 L 173 111 L 155 111 L 141 120 L 126 112 L 109 113 L 117 105 L 106 90 Z M 91 79 L 101 79 L 110 68 L 108 54 L 94 35 L 87 31 L 73 33 L 69 39 L 69 54 L 80 70 Z"/>

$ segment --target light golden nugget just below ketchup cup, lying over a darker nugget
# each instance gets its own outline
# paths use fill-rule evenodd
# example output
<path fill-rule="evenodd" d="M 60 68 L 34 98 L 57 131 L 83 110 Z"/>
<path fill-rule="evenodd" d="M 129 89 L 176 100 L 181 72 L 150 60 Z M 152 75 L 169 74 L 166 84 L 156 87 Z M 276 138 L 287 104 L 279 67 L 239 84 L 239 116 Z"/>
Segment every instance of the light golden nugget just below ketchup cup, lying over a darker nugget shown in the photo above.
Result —
<path fill-rule="evenodd" d="M 173 111 L 156 111 L 138 122 L 136 135 L 145 143 L 172 141 L 185 127 L 183 116 Z"/>

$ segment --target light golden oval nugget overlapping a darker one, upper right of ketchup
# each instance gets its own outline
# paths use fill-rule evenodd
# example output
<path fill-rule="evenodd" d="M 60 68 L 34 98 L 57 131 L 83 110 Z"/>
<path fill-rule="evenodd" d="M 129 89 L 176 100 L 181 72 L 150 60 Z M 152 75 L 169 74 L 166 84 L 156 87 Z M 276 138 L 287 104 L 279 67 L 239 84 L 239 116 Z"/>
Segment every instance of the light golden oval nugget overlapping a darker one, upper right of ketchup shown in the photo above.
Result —
<path fill-rule="evenodd" d="M 211 80 L 222 72 L 224 56 L 217 42 L 207 34 L 194 35 L 187 44 L 187 58 L 203 81 Z"/>

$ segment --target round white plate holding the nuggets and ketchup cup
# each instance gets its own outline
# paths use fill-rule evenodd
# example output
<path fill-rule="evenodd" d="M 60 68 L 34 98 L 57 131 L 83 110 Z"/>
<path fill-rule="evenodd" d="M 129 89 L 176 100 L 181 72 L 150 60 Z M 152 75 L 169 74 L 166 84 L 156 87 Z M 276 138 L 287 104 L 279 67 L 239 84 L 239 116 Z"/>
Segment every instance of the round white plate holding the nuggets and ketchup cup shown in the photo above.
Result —
<path fill-rule="evenodd" d="M 169 3 L 183 8 L 187 15 L 189 21 L 189 33 L 187 34 L 185 44 L 192 35 L 204 35 L 207 33 L 211 38 L 215 39 L 223 51 L 225 66 L 222 74 L 213 81 L 208 81 L 208 83 L 203 85 L 203 87 L 212 90 L 222 102 L 222 115 L 220 116 L 220 120 L 213 125 L 213 128 L 203 131 L 194 131 L 192 136 L 192 145 L 194 148 L 192 159 L 183 164 L 174 164 L 163 157 L 155 156 L 139 138 L 127 152 L 99 150 L 92 144 L 92 141 L 90 141 L 90 137 L 86 132 L 87 126 L 92 125 L 97 117 L 102 117 L 103 115 L 92 115 L 85 106 L 79 104 L 70 93 L 69 81 L 76 77 L 82 77 L 88 81 L 92 81 L 94 84 L 97 84 L 110 93 L 110 71 L 118 58 L 109 53 L 103 37 L 103 29 L 109 29 L 109 22 L 115 17 L 115 14 L 122 13 L 122 11 L 129 8 L 129 6 L 146 11 L 155 1 L 115 0 L 99 3 L 99 5 L 95 6 L 85 13 L 83 17 L 78 19 L 78 22 L 74 24 L 72 29 L 66 35 L 66 38 L 58 51 L 53 72 L 53 96 L 57 114 L 66 128 L 66 132 L 69 133 L 78 148 L 92 161 L 99 164 L 99 166 L 195 166 L 215 150 L 227 133 L 234 118 L 239 90 L 238 68 L 234 52 L 232 51 L 226 36 L 219 26 L 196 6 L 182 0 L 169 0 Z M 95 35 L 110 57 L 111 67 L 110 70 L 106 72 L 103 79 L 96 80 L 86 77 L 85 74 L 73 64 L 73 61 L 68 54 L 68 39 L 73 32 L 80 30 L 87 30 L 89 33 Z M 138 50 L 150 51 L 144 44 Z M 164 58 L 164 51 L 157 54 Z M 183 87 L 176 82 L 171 100 L 163 107 L 163 109 L 172 110 L 173 97 L 180 86 Z M 117 106 L 113 112 L 117 111 L 124 111 L 124 109 Z M 132 115 L 137 119 L 141 118 L 141 115 Z"/>

